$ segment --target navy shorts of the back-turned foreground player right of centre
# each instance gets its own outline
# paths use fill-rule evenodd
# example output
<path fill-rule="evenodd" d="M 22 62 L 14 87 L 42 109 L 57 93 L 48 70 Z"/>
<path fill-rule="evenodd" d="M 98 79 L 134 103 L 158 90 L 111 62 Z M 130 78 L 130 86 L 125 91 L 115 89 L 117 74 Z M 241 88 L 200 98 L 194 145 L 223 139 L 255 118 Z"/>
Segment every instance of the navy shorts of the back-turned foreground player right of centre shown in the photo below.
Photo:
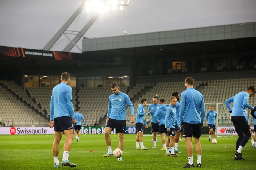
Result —
<path fill-rule="evenodd" d="M 183 123 L 183 137 L 201 137 L 201 123 L 191 124 L 184 122 Z"/>

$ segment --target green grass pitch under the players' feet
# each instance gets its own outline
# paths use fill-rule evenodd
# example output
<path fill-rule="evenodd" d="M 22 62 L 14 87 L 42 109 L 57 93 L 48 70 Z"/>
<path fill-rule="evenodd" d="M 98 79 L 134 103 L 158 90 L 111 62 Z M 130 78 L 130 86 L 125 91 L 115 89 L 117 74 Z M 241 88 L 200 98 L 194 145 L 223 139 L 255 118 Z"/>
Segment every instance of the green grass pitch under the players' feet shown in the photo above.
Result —
<path fill-rule="evenodd" d="M 165 151 L 161 151 L 162 143 L 156 149 L 151 149 L 152 136 L 143 136 L 143 144 L 149 150 L 135 150 L 136 135 L 124 135 L 123 161 L 117 161 L 114 157 L 103 157 L 107 150 L 104 134 L 81 135 L 80 141 L 73 140 L 69 159 L 77 164 L 75 169 L 181 169 L 187 163 L 187 151 L 185 141 L 179 142 L 178 149 L 182 153 L 180 157 L 166 157 Z M 1 135 L 0 136 L 0 169 L 54 169 L 52 155 L 52 143 L 54 135 Z M 75 137 L 74 137 L 75 138 Z M 118 136 L 111 135 L 112 149 L 118 148 Z M 218 137 L 218 143 L 208 142 L 208 137 L 201 137 L 202 144 L 202 168 L 203 169 L 255 169 L 256 149 L 248 141 L 242 154 L 245 161 L 235 161 L 235 143 L 237 136 Z M 59 161 L 63 156 L 63 143 L 65 135 L 60 142 Z M 197 163 L 197 155 L 194 146 L 194 165 Z M 228 146 L 225 148 L 225 146 Z M 93 152 L 89 152 L 92 150 Z M 195 166 L 195 168 L 197 168 Z M 65 166 L 62 169 L 70 169 Z"/>

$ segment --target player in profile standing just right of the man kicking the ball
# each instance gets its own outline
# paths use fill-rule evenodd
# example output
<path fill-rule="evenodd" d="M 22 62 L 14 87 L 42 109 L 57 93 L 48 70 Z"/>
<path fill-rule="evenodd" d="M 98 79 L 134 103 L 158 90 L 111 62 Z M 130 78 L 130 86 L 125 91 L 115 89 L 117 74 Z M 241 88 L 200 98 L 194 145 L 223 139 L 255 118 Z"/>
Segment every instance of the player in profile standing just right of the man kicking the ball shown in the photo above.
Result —
<path fill-rule="evenodd" d="M 147 105 L 147 100 L 142 99 L 141 100 L 141 105 L 139 105 L 139 107 L 137 109 L 137 115 L 136 115 L 136 121 L 135 121 L 135 127 L 136 127 L 136 131 L 137 131 L 136 148 L 135 149 L 144 149 L 144 150 L 148 149 L 143 145 L 143 141 L 142 141 L 143 123 L 145 125 L 145 128 L 148 128 L 148 125 L 147 125 L 147 123 L 145 121 L 145 118 L 144 118 L 144 115 L 145 115 L 144 107 L 146 105 Z M 139 147 L 139 143 L 140 143 L 140 147 Z"/>

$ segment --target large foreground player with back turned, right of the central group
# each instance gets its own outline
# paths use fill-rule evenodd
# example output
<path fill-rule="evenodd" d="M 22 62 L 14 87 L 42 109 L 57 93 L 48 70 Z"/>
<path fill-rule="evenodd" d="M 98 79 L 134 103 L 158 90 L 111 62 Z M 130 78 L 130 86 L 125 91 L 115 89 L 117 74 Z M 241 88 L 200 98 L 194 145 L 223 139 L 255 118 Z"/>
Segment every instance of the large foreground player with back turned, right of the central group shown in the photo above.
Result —
<path fill-rule="evenodd" d="M 203 128 L 205 107 L 203 95 L 194 89 L 194 84 L 194 79 L 192 77 L 187 77 L 185 79 L 187 90 L 181 93 L 180 125 L 183 127 L 183 136 L 185 137 L 188 155 L 187 165 L 182 166 L 181 168 L 194 167 L 192 136 L 194 136 L 194 141 L 196 143 L 197 167 L 202 167 L 202 146 L 200 137 L 201 128 Z"/>

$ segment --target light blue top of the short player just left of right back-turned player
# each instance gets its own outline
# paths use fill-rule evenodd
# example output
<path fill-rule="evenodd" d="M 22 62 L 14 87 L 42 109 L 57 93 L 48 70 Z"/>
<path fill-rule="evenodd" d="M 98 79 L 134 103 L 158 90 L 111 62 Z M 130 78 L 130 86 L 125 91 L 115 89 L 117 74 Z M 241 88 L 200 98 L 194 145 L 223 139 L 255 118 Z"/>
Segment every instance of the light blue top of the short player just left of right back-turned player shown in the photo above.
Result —
<path fill-rule="evenodd" d="M 167 128 L 167 130 L 175 128 L 175 125 L 177 125 L 178 128 L 181 128 L 176 118 L 176 108 L 170 104 L 165 113 L 165 128 Z"/>

